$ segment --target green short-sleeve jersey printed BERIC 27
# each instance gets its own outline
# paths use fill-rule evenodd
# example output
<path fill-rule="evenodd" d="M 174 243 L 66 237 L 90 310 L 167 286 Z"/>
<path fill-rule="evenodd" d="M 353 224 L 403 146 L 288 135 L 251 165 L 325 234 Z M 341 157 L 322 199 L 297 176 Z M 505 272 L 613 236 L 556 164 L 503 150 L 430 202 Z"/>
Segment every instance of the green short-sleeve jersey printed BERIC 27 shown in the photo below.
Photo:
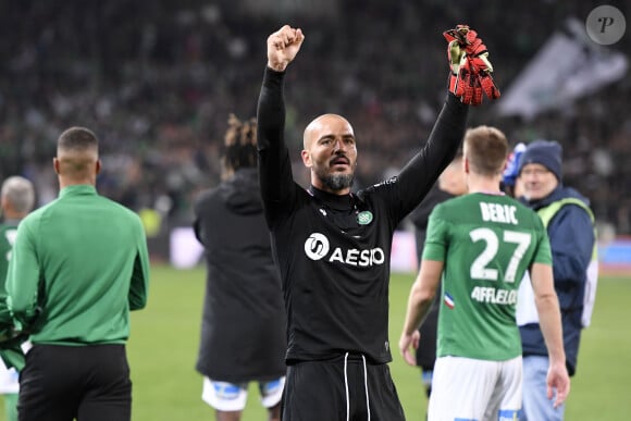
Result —
<path fill-rule="evenodd" d="M 434 208 L 423 260 L 443 261 L 437 357 L 521 355 L 517 292 L 532 263 L 552 264 L 539 215 L 504 195 L 474 193 Z"/>

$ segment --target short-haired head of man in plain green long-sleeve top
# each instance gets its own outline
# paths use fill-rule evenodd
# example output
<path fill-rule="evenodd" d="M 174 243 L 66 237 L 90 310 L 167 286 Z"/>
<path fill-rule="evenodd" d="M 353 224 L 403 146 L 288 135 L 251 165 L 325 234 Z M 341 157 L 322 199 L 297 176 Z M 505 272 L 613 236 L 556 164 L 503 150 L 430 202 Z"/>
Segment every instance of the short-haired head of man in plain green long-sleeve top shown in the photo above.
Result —
<path fill-rule="evenodd" d="M 71 127 L 57 141 L 54 170 L 62 187 L 71 184 L 95 184 L 100 171 L 99 141 L 85 127 Z"/>

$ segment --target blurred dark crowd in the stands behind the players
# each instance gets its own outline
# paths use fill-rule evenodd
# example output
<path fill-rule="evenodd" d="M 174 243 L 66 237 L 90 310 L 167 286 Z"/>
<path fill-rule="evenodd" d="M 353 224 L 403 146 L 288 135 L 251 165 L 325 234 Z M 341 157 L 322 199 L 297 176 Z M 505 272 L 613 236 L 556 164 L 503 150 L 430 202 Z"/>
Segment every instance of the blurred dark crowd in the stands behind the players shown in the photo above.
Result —
<path fill-rule="evenodd" d="M 627 17 L 610 45 L 585 29 L 602 4 Z M 355 127 L 362 187 L 425 141 L 446 95 L 442 32 L 466 23 L 503 92 L 469 125 L 496 125 L 512 145 L 561 143 L 565 184 L 614 242 L 631 235 L 630 12 L 586 0 L 2 1 L 0 179 L 22 174 L 39 205 L 52 200 L 57 138 L 87 126 L 101 140 L 99 191 L 139 212 L 152 257 L 169 260 L 196 194 L 219 182 L 228 113 L 256 114 L 269 34 L 288 23 L 306 35 L 286 84 L 297 179 L 304 127 L 335 112 Z"/>

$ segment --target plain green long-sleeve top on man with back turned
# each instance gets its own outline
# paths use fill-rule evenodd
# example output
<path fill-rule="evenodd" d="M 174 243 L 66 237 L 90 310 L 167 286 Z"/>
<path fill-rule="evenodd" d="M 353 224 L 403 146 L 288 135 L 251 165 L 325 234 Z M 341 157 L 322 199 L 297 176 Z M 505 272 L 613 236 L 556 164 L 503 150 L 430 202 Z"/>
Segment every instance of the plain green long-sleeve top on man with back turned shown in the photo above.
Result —
<path fill-rule="evenodd" d="M 16 327 L 34 344 L 124 344 L 148 282 L 138 215 L 75 185 L 20 223 L 7 292 Z"/>

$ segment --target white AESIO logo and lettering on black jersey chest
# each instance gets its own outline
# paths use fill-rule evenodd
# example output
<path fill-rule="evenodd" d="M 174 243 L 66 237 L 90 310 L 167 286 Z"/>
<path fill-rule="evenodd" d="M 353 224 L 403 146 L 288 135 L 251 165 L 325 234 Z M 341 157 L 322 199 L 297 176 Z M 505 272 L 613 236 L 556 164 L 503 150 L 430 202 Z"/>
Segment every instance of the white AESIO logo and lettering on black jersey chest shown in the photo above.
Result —
<path fill-rule="evenodd" d="M 330 262 L 339 262 L 352 267 L 372 267 L 385 262 L 385 253 L 381 247 L 371 249 L 335 247 L 331 250 L 331 244 L 325 235 L 312 233 L 305 242 L 305 253 L 311 260 L 326 259 Z"/>

